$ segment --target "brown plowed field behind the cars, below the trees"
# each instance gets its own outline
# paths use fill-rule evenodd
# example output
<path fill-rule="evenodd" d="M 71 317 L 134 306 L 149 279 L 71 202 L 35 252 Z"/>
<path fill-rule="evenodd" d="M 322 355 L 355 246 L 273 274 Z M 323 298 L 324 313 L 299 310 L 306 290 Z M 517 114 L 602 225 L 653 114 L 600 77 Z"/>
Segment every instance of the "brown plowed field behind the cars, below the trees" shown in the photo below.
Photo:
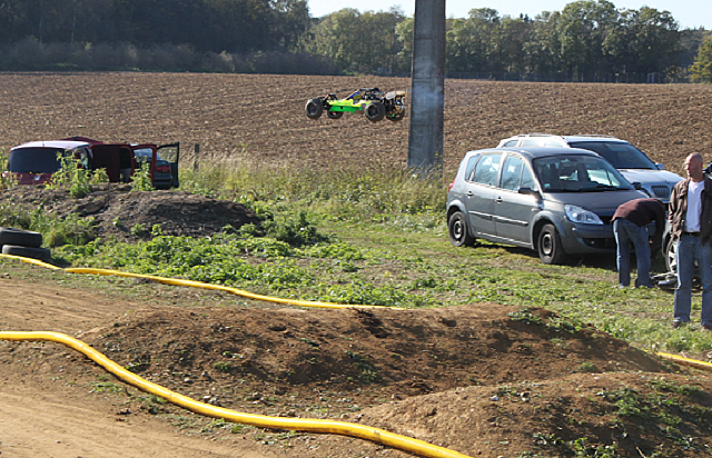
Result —
<path fill-rule="evenodd" d="M 409 121 L 363 114 L 316 121 L 304 104 L 362 87 L 409 90 L 408 79 L 267 74 L 0 74 L 0 148 L 72 136 L 169 143 L 205 158 L 355 168 L 405 165 Z M 524 132 L 600 133 L 635 143 L 673 171 L 712 159 L 710 84 L 577 84 L 447 80 L 445 179 L 465 151 Z"/>

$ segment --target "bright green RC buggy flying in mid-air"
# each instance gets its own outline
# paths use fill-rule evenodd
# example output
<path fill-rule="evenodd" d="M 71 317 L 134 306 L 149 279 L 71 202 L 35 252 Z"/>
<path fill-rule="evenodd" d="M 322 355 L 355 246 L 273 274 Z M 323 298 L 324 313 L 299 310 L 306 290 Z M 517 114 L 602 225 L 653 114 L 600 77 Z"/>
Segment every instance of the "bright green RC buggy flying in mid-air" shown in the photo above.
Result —
<path fill-rule="evenodd" d="M 307 118 L 319 119 L 326 111 L 332 119 L 339 119 L 344 112 L 364 111 L 372 122 L 386 118 L 399 121 L 405 117 L 405 91 L 382 92 L 378 88 L 359 89 L 345 99 L 334 93 L 309 99 L 305 107 Z"/>

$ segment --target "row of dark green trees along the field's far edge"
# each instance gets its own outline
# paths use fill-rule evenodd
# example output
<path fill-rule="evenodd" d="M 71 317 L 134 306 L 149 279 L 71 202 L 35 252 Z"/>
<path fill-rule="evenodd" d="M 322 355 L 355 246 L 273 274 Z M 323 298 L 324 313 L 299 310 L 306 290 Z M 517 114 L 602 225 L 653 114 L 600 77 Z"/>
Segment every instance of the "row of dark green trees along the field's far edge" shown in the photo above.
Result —
<path fill-rule="evenodd" d="M 307 0 L 0 0 L 0 70 L 409 76 L 413 18 Z M 668 11 L 580 0 L 535 18 L 447 19 L 451 77 L 712 81 L 712 32 Z"/>

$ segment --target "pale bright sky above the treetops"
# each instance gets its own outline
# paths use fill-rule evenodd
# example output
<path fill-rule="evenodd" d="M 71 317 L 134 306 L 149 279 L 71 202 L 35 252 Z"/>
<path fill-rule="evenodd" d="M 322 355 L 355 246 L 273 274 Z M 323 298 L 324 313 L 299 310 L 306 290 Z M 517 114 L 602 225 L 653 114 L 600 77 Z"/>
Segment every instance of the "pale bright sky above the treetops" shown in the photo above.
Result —
<path fill-rule="evenodd" d="M 466 18 L 474 8 L 492 8 L 500 17 L 520 17 L 520 13 L 534 18 L 542 11 L 561 11 L 573 0 L 446 0 L 445 14 L 448 18 Z M 616 9 L 640 10 L 642 7 L 670 11 L 680 24 L 680 29 L 704 27 L 712 30 L 712 0 L 610 0 Z M 364 11 L 387 11 L 390 7 L 400 7 L 406 16 L 413 17 L 415 0 L 307 0 L 313 17 L 328 14 L 344 8 Z"/>

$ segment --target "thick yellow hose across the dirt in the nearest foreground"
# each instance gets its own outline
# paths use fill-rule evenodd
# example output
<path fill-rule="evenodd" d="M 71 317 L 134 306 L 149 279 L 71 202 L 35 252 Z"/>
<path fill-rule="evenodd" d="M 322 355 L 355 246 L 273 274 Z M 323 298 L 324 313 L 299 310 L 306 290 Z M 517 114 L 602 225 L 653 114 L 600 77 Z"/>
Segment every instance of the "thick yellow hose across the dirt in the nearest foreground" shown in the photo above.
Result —
<path fill-rule="evenodd" d="M 423 457 L 433 458 L 468 458 L 466 455 L 462 455 L 457 451 L 449 450 L 443 447 L 428 444 L 423 440 L 413 439 L 406 436 L 396 435 L 385 429 L 372 428 L 368 426 L 356 425 L 345 421 L 333 421 L 322 419 L 308 419 L 308 418 L 283 418 L 283 417 L 268 417 L 264 415 L 240 414 L 234 410 L 225 409 L 222 407 L 211 406 L 209 404 L 198 402 L 195 399 L 190 399 L 187 396 L 174 392 L 160 385 L 150 382 L 134 372 L 130 372 L 111 361 L 105 355 L 91 348 L 89 345 L 73 337 L 67 336 L 61 332 L 16 332 L 16 331 L 0 331 L 1 340 L 47 340 L 57 344 L 63 344 L 70 347 L 88 358 L 103 367 L 107 371 L 113 374 L 119 379 L 130 384 L 142 391 L 151 395 L 160 396 L 167 399 L 176 406 L 180 406 L 196 414 L 205 415 L 214 418 L 224 418 L 225 420 L 239 422 L 244 425 L 253 425 L 261 428 L 273 429 L 289 429 L 306 432 L 320 432 L 320 434 L 335 434 L 342 436 L 357 437 L 360 439 L 370 440 L 374 442 L 383 444 L 388 447 L 405 450 L 412 454 L 416 454 Z"/>

